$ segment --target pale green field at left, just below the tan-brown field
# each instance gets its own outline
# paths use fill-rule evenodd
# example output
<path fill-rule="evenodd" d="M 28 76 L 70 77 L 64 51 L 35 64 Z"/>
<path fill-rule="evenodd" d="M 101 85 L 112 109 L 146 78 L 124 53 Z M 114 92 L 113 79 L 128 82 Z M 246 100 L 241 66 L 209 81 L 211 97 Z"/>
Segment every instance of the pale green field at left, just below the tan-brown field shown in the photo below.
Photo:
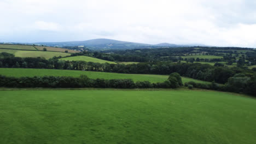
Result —
<path fill-rule="evenodd" d="M 51 52 L 51 51 L 16 51 L 14 53 L 16 57 L 44 57 L 45 59 L 53 58 L 54 56 L 69 56 L 70 53 L 64 52 Z"/>

